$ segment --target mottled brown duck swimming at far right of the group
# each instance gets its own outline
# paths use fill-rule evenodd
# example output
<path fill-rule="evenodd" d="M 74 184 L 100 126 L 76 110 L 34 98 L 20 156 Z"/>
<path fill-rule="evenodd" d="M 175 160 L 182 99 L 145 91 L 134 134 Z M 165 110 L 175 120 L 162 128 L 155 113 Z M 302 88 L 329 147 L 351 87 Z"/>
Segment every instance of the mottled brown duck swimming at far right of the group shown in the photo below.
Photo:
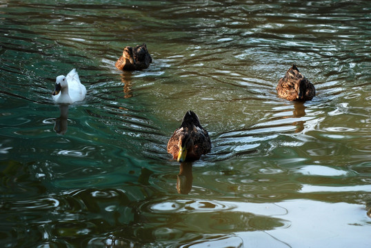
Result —
<path fill-rule="evenodd" d="M 289 101 L 312 100 L 316 95 L 314 85 L 299 72 L 296 65 L 292 65 L 285 76 L 279 79 L 276 90 L 279 97 Z"/>

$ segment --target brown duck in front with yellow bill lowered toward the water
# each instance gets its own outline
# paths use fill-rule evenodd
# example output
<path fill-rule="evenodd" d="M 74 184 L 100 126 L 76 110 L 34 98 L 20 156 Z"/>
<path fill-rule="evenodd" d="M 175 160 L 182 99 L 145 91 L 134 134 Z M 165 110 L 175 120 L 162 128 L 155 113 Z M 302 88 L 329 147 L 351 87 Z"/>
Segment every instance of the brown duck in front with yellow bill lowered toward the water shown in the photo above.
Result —
<path fill-rule="evenodd" d="M 211 141 L 200 124 L 199 116 L 192 111 L 185 113 L 181 126 L 168 142 L 168 153 L 178 162 L 197 161 L 211 150 Z"/>

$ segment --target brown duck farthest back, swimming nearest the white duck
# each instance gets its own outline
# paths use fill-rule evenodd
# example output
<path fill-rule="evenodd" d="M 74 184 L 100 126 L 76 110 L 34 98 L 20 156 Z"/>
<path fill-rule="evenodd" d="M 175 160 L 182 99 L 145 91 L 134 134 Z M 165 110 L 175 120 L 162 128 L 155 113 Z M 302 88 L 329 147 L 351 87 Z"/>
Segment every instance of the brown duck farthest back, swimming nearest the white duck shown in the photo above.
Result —
<path fill-rule="evenodd" d="M 135 48 L 126 46 L 123 48 L 122 56 L 117 60 L 115 66 L 119 70 L 143 70 L 152 63 L 152 57 L 147 50 L 147 45 L 137 45 Z"/>

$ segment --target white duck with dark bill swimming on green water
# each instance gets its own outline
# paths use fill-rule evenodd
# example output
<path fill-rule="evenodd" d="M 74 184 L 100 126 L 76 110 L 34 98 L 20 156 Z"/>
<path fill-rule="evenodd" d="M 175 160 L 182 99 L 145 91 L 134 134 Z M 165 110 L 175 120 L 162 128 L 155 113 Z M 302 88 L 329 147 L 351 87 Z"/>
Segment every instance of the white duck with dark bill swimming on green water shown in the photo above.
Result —
<path fill-rule="evenodd" d="M 52 98 L 56 103 L 74 103 L 82 101 L 86 95 L 86 87 L 80 83 L 76 69 L 68 72 L 67 76 L 57 76 Z"/>

